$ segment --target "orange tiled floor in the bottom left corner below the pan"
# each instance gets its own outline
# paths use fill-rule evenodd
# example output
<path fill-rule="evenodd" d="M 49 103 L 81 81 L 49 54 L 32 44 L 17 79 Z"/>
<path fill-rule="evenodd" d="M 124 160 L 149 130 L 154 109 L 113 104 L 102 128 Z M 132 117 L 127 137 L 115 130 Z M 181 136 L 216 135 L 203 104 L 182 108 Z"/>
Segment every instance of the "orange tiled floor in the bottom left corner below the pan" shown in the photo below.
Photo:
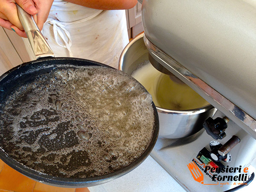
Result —
<path fill-rule="evenodd" d="M 0 160 L 0 192 L 90 192 L 87 188 L 61 188 L 36 182 Z"/>

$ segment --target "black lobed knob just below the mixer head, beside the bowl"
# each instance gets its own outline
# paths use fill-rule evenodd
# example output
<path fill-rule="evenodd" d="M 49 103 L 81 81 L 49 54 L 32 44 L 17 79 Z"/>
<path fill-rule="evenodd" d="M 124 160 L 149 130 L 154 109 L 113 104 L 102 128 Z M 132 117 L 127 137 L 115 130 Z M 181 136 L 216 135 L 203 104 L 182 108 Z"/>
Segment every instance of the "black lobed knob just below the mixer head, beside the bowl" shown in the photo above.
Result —
<path fill-rule="evenodd" d="M 212 119 L 211 117 L 207 118 L 204 121 L 204 128 L 210 136 L 212 136 L 213 139 L 223 139 L 226 137 L 225 130 L 227 128 L 227 117 L 221 118 L 217 117 L 216 119 Z"/>

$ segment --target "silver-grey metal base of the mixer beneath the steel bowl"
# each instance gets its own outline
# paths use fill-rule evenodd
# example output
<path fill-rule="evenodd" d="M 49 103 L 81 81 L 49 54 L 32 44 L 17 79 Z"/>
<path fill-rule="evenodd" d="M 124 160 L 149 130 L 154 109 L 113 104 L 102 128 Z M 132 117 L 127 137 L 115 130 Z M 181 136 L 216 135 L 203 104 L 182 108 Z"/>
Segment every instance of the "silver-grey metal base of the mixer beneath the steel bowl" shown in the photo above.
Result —
<path fill-rule="evenodd" d="M 217 111 L 214 117 L 217 116 L 224 115 L 220 111 Z M 218 140 L 218 142 L 225 143 L 230 137 L 237 135 L 241 139 L 241 143 L 236 145 L 232 151 L 230 151 L 232 161 L 229 163 L 224 162 L 223 164 L 229 167 L 249 167 L 247 172 L 249 177 L 249 175 L 254 172 L 253 163 L 256 162 L 256 140 L 250 137 L 249 134 L 233 122 L 229 122 L 226 133 L 227 136 L 223 140 Z M 207 175 L 203 173 L 204 184 L 202 184 L 193 179 L 187 166 L 193 159 L 200 164 L 200 161 L 197 159 L 197 154 L 202 148 L 209 148 L 209 142 L 212 140 L 212 137 L 210 137 L 206 131 L 204 131 L 203 134 L 199 133 L 199 136 L 193 135 L 193 137 L 179 139 L 178 141 L 158 138 L 157 143 L 151 152 L 151 156 L 187 191 L 196 192 L 200 189 L 204 191 L 223 192 L 238 186 L 237 183 L 241 182 L 238 181 L 234 184 L 235 181 L 227 181 L 225 179 L 224 181 L 221 180 L 217 183 L 213 182 L 210 177 L 207 177 Z M 202 172 L 203 169 L 202 166 Z M 236 174 L 237 173 L 221 173 L 220 175 L 234 176 Z"/>

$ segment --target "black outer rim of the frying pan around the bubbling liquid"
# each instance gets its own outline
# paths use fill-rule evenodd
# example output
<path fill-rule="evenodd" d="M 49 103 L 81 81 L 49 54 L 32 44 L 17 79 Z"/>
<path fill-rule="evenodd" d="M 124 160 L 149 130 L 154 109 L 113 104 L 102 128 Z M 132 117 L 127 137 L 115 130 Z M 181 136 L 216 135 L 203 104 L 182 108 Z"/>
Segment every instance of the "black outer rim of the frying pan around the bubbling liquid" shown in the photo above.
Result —
<path fill-rule="evenodd" d="M 40 58 L 35 61 L 29 61 L 23 64 L 18 65 L 17 67 L 12 68 L 11 70 L 7 71 L 3 75 L 0 76 L 0 81 L 2 81 L 6 76 L 8 76 L 10 73 L 12 73 L 15 70 L 20 69 L 21 67 L 24 67 L 29 64 L 36 64 L 38 62 L 44 62 L 44 61 L 52 61 L 52 60 L 69 60 L 69 61 L 85 61 L 90 63 L 87 64 L 88 66 L 102 66 L 102 67 L 110 67 L 111 66 L 91 61 L 87 59 L 81 59 L 81 58 L 66 58 L 66 57 L 58 57 L 58 58 Z M 115 68 L 113 68 L 115 69 Z M 116 69 L 115 69 L 116 70 Z M 122 72 L 124 73 L 124 72 Z M 10 157 L 9 154 L 7 154 L 2 148 L 0 148 L 0 159 L 3 160 L 4 163 L 6 163 L 8 166 L 12 167 L 16 171 L 20 172 L 21 174 L 32 178 L 33 180 L 37 180 L 42 183 L 46 183 L 53 186 L 61 186 L 61 187 L 88 187 L 88 186 L 95 186 L 98 184 L 106 183 L 108 181 L 111 181 L 113 179 L 116 179 L 118 177 L 121 177 L 122 175 L 127 174 L 128 172 L 135 169 L 137 166 L 139 166 L 150 154 L 152 151 L 158 137 L 159 133 L 159 119 L 158 119 L 158 113 L 157 108 L 152 102 L 152 107 L 154 110 L 154 128 L 152 130 L 152 137 L 150 142 L 148 143 L 148 147 L 143 151 L 143 153 L 138 157 L 136 160 L 134 160 L 132 163 L 130 163 L 128 166 L 125 166 L 122 169 L 118 169 L 114 172 L 111 172 L 107 175 L 101 175 L 96 177 L 85 177 L 85 178 L 67 178 L 67 177 L 54 177 L 45 173 L 38 172 L 34 169 L 31 169 L 27 166 L 24 166 L 22 163 L 18 162 L 14 158 Z"/>

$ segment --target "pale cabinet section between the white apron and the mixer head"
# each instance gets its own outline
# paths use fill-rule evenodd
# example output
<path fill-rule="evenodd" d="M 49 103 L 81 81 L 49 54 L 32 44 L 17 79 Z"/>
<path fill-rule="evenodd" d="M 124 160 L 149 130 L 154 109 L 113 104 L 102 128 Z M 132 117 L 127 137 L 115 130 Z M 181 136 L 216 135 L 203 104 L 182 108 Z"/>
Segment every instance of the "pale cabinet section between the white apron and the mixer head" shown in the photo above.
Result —
<path fill-rule="evenodd" d="M 132 9 L 126 10 L 126 20 L 129 38 L 135 38 L 143 32 L 141 21 L 141 3 L 137 3 Z"/>

